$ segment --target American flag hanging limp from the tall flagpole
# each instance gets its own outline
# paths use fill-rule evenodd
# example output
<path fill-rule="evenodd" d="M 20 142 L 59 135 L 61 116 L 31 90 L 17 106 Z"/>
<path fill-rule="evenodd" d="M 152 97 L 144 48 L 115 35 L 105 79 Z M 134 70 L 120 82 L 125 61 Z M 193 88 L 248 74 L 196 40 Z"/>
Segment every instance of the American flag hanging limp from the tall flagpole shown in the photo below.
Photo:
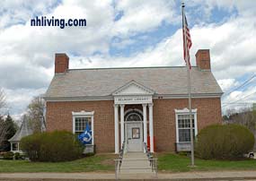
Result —
<path fill-rule="evenodd" d="M 190 65 L 190 47 L 192 46 L 192 41 L 191 41 L 191 38 L 190 38 L 190 29 L 189 29 L 189 25 L 188 25 L 187 18 L 185 16 L 185 14 L 184 14 L 184 20 L 185 20 L 185 22 L 182 23 L 182 25 L 183 25 L 184 60 L 186 62 L 186 65 L 189 65 L 189 67 L 191 69 L 191 65 Z M 186 43 L 185 43 L 185 41 L 186 41 Z"/>

